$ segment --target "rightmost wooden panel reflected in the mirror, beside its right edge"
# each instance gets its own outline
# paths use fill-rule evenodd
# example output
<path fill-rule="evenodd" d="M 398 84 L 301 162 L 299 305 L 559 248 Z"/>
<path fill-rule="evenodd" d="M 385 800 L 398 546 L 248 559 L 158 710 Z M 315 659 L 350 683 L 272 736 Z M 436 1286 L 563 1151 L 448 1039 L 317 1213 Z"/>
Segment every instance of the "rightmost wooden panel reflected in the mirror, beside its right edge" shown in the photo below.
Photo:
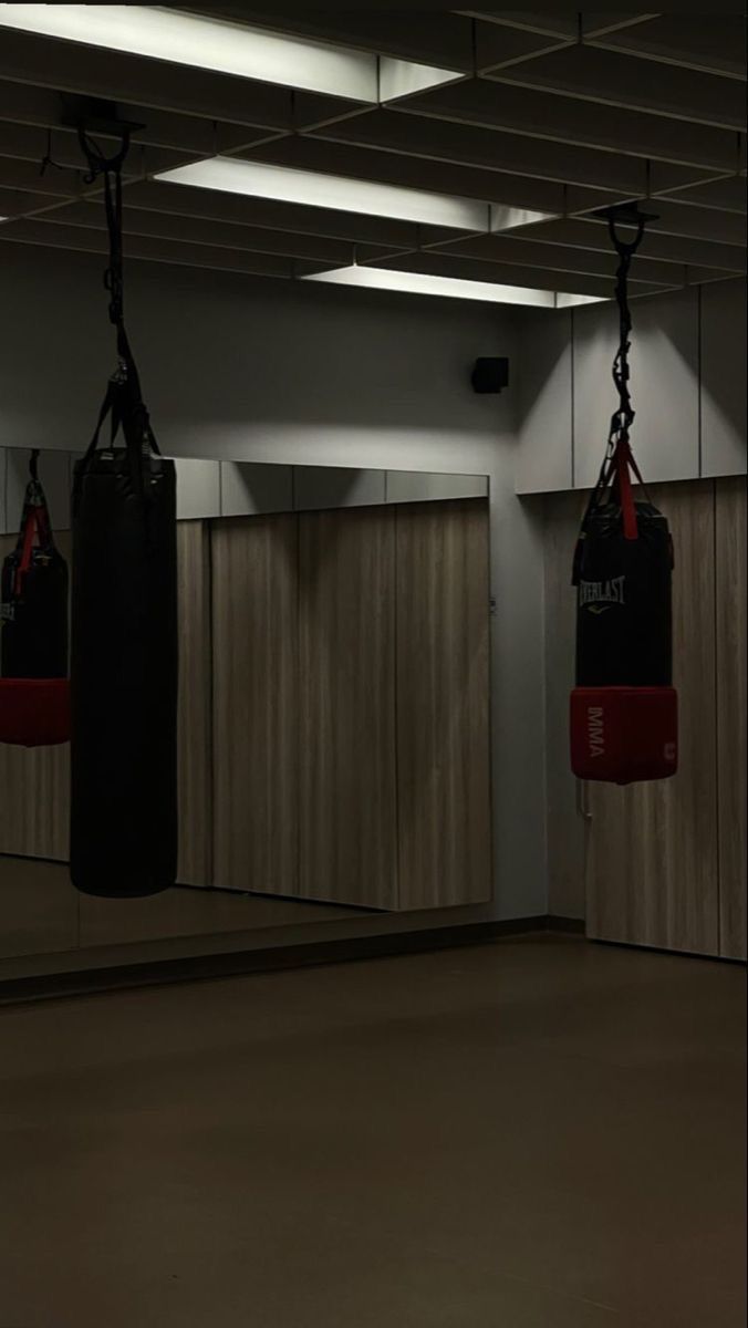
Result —
<path fill-rule="evenodd" d="M 400 908 L 492 894 L 484 499 L 397 510 Z"/>

